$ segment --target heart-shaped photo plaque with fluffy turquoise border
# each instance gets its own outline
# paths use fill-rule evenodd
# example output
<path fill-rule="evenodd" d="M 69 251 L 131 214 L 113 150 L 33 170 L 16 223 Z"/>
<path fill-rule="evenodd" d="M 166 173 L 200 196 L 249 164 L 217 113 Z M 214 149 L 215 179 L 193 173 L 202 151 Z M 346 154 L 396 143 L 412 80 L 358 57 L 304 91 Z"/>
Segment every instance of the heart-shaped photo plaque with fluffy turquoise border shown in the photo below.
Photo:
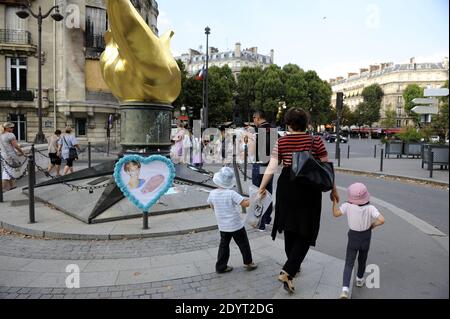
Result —
<path fill-rule="evenodd" d="M 127 155 L 117 162 L 114 178 L 125 197 L 148 212 L 172 187 L 175 167 L 170 159 L 160 155 Z"/>

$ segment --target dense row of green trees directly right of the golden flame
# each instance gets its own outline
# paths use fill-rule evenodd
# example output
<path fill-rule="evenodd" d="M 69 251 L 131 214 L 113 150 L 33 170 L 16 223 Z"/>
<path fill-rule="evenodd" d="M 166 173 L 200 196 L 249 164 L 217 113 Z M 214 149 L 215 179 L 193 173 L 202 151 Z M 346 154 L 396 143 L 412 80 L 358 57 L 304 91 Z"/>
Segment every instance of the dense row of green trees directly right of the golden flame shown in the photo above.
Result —
<path fill-rule="evenodd" d="M 192 77 L 187 77 L 182 83 L 183 92 L 174 105 L 193 106 L 198 118 L 203 83 Z M 282 69 L 277 65 L 264 70 L 260 67 L 243 68 L 237 81 L 228 66 L 211 67 L 208 83 L 211 125 L 232 120 L 234 95 L 236 111 L 245 121 L 251 121 L 256 109 L 264 110 L 268 121 L 275 121 L 281 101 L 286 102 L 288 108 L 301 107 L 309 111 L 314 125 L 330 123 L 333 118 L 331 87 L 316 72 L 304 72 L 295 64 Z"/>

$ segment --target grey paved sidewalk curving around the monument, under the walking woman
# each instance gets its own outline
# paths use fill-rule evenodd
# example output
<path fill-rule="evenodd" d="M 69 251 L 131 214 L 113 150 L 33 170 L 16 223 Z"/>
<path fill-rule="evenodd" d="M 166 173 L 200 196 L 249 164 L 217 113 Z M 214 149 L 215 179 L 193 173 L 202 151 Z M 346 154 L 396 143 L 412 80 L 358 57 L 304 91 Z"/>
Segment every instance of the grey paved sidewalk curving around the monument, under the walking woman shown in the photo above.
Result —
<path fill-rule="evenodd" d="M 81 240 L 0 237 L 0 298 L 335 299 L 340 293 L 344 261 L 311 250 L 301 275 L 295 279 L 297 293 L 288 295 L 276 279 L 286 258 L 282 236 L 274 242 L 269 232 L 253 229 L 248 232 L 258 269 L 245 271 L 240 252 L 232 244 L 230 264 L 235 270 L 216 274 L 218 231 L 205 231 L 217 228 L 211 210 L 153 216 L 152 229 L 143 231 L 139 219 L 86 225 L 38 204 L 38 223 L 30 225 L 23 195 L 20 192 L 6 195 L 6 202 L 0 203 L 3 227 L 38 236 L 59 234 L 60 238 Z M 191 228 L 195 232 L 189 232 Z M 119 238 L 115 237 L 119 234 L 122 238 L 157 237 L 87 241 Z M 66 267 L 72 264 L 81 272 L 79 289 L 66 288 L 69 275 Z"/>

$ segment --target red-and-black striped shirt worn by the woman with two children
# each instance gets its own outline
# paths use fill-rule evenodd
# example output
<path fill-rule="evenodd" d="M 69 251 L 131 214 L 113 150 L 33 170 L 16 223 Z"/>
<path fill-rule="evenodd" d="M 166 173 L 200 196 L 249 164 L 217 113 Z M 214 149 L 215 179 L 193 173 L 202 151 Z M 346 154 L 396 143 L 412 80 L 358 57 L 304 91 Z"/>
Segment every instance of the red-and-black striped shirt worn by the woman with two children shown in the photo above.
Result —
<path fill-rule="evenodd" d="M 284 167 L 292 165 L 292 153 L 309 151 L 311 149 L 312 137 L 309 134 L 290 134 L 280 138 L 272 152 L 272 157 L 283 163 Z M 314 137 L 312 155 L 319 159 L 328 156 L 325 145 L 319 136 Z"/>

